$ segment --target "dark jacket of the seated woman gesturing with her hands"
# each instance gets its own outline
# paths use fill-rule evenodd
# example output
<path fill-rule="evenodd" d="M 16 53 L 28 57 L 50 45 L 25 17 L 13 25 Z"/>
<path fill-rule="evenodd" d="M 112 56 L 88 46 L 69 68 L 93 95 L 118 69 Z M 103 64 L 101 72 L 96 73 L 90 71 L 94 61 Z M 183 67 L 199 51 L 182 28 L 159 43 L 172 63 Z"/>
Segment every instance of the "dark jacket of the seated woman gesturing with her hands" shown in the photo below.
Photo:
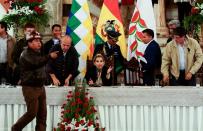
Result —
<path fill-rule="evenodd" d="M 102 79 L 102 85 L 103 86 L 111 86 L 112 85 L 112 77 L 110 76 L 110 79 L 106 78 L 107 70 L 108 70 L 108 68 L 106 66 L 104 66 L 102 68 L 101 79 Z M 93 66 L 91 69 L 89 69 L 86 72 L 85 79 L 86 79 L 87 83 L 89 82 L 90 79 L 94 83 L 96 82 L 96 80 L 98 79 L 96 66 Z"/>

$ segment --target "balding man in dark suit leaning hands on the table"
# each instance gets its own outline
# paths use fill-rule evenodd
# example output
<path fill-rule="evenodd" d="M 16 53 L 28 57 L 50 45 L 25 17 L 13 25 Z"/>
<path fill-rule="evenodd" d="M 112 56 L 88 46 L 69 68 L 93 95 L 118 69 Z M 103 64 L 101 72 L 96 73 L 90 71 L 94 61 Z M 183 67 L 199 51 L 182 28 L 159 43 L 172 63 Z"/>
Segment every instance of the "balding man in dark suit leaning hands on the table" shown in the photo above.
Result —
<path fill-rule="evenodd" d="M 47 73 L 55 86 L 69 86 L 78 75 L 78 53 L 71 45 L 70 36 L 63 36 L 61 44 L 56 44 L 50 52 L 58 51 L 58 57 L 47 64 Z"/>

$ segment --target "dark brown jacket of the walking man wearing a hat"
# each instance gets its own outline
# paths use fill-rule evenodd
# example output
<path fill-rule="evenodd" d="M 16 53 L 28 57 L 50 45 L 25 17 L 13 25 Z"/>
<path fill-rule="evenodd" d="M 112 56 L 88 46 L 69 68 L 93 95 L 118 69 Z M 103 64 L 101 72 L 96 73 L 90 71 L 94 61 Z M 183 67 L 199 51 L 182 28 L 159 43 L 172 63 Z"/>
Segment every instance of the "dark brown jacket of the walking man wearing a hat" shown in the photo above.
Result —
<path fill-rule="evenodd" d="M 49 56 L 42 56 L 40 52 L 30 48 L 25 49 L 20 56 L 21 85 L 43 86 L 46 80 L 45 64 Z"/>

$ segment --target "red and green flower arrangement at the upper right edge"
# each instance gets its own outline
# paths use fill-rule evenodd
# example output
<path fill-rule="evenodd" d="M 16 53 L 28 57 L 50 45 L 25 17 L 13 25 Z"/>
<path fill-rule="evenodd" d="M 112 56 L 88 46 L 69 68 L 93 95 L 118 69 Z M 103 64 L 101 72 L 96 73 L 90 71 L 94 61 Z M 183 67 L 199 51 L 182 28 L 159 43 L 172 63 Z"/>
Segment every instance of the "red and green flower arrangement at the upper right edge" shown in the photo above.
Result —
<path fill-rule="evenodd" d="M 191 15 L 184 18 L 183 24 L 191 36 L 199 40 L 198 33 L 203 23 L 203 0 L 193 3 Z"/>

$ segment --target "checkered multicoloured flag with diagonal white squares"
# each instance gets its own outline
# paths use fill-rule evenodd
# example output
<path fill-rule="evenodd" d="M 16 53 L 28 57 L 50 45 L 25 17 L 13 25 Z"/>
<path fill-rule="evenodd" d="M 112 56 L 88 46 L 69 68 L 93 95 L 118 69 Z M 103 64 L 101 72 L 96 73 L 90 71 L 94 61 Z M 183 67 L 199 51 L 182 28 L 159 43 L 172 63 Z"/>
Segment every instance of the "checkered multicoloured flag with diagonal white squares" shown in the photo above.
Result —
<path fill-rule="evenodd" d="M 87 57 L 91 59 L 94 51 L 93 26 L 87 0 L 73 0 L 66 34 L 72 38 L 72 43 L 78 52 L 80 76 L 86 73 Z"/>

